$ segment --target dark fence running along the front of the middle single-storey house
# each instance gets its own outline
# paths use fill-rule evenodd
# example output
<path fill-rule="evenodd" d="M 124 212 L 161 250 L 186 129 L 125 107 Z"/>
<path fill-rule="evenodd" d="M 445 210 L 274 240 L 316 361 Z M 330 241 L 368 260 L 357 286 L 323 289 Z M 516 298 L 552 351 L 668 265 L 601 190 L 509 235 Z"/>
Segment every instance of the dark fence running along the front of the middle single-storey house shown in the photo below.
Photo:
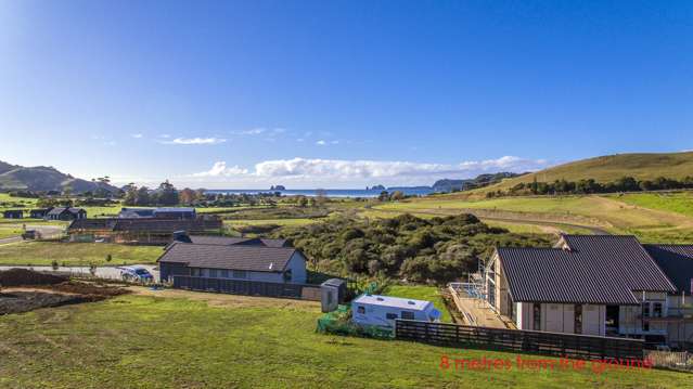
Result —
<path fill-rule="evenodd" d="M 232 295 L 265 296 L 281 298 L 310 298 L 319 286 L 301 284 L 268 283 L 261 281 L 227 280 L 174 275 L 174 287 L 180 289 L 224 293 Z M 304 290 L 308 289 L 308 290 Z"/>

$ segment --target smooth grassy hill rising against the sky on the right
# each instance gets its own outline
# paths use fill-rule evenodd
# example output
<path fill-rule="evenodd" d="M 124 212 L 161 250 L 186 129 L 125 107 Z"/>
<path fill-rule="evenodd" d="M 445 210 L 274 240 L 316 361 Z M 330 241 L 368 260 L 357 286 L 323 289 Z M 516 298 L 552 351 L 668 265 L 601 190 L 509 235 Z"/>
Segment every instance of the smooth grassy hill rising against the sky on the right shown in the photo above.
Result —
<path fill-rule="evenodd" d="M 598 182 L 612 182 L 624 176 L 638 180 L 654 180 L 657 177 L 683 179 L 693 176 L 693 152 L 659 154 L 616 154 L 559 165 L 534 173 L 503 180 L 502 182 L 476 190 L 486 193 L 506 190 L 521 182 L 553 182 L 555 180 L 578 181 L 594 179 Z"/>

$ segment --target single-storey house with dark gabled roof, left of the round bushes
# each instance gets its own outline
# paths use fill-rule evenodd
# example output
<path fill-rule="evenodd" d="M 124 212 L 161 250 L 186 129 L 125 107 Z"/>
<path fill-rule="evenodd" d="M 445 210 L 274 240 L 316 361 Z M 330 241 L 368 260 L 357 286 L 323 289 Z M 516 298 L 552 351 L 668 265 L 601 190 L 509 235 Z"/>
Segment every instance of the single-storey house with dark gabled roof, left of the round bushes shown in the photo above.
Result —
<path fill-rule="evenodd" d="M 158 258 L 161 278 L 175 276 L 305 284 L 306 258 L 293 247 L 176 242 Z"/>

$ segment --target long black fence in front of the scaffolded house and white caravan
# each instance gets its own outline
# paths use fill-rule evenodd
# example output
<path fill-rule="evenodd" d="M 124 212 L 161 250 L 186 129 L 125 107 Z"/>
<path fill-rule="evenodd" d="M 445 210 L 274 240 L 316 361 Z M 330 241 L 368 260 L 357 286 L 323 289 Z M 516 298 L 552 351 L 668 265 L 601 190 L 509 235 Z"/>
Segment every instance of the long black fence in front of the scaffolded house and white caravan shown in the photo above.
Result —
<path fill-rule="evenodd" d="M 397 320 L 395 337 L 439 346 L 539 353 L 582 360 L 643 359 L 640 339 L 475 327 Z"/>

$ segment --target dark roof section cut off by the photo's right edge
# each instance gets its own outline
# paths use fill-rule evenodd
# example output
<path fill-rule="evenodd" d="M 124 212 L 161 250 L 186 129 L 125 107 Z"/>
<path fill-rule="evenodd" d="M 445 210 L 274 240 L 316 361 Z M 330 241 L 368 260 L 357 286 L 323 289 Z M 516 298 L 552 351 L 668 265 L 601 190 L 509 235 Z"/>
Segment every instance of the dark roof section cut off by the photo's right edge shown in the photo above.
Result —
<path fill-rule="evenodd" d="M 693 245 L 644 245 L 678 293 L 693 294 Z"/>

